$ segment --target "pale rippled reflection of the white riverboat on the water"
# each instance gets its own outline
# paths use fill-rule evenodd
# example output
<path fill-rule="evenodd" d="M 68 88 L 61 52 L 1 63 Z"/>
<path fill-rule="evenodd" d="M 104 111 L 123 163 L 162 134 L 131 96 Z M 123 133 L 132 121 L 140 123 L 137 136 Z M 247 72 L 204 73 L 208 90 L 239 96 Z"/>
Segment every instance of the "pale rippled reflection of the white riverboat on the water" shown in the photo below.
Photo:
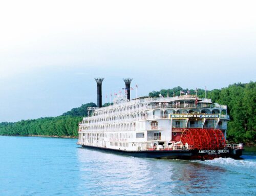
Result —
<path fill-rule="evenodd" d="M 225 168 L 181 160 L 157 160 L 78 149 L 81 187 L 93 195 L 164 195 L 215 192 Z"/>

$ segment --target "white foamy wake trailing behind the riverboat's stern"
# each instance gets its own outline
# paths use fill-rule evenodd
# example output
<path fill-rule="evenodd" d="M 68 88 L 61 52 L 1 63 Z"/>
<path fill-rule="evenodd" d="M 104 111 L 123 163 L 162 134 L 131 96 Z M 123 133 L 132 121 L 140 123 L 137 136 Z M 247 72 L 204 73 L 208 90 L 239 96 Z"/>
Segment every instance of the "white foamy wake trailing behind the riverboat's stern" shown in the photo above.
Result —
<path fill-rule="evenodd" d="M 256 161 L 235 160 L 231 158 L 217 158 L 213 160 L 195 161 L 195 162 L 213 165 L 213 166 L 236 166 L 236 167 L 256 168 Z"/>

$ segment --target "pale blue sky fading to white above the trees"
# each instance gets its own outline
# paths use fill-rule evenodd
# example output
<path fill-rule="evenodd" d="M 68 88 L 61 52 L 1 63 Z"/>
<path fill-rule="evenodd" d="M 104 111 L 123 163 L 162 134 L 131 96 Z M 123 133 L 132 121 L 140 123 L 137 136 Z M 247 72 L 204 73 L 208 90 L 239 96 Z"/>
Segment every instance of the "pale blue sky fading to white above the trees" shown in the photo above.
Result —
<path fill-rule="evenodd" d="M 138 96 L 256 79 L 253 1 L 3 1 L 0 122 L 59 116 L 133 78 Z M 135 98 L 135 92 L 131 92 Z"/>

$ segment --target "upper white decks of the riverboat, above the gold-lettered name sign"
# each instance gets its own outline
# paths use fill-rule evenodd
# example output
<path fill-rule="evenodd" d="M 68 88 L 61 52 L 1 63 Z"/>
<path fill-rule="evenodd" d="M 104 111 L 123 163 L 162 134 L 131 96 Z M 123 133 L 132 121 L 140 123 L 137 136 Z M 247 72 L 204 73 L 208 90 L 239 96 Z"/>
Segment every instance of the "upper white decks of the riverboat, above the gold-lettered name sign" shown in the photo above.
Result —
<path fill-rule="evenodd" d="M 219 114 L 222 119 L 229 119 L 227 106 L 212 103 L 210 99 L 198 98 L 195 95 L 176 97 L 142 98 L 126 101 L 122 97 L 114 100 L 114 104 L 107 107 L 91 107 L 89 117 L 83 118 L 82 123 L 105 124 L 112 121 L 132 122 L 138 120 L 167 119 L 168 114 Z M 160 110 L 160 113 L 154 111 Z"/>

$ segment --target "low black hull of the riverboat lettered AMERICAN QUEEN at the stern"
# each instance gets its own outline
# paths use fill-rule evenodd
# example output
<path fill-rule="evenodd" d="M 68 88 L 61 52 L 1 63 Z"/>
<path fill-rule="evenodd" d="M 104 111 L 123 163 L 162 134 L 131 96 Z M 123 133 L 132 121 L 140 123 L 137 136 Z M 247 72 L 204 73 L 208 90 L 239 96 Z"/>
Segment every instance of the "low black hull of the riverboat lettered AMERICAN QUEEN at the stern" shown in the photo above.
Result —
<path fill-rule="evenodd" d="M 126 151 L 119 149 L 103 148 L 96 146 L 81 145 L 84 148 L 97 149 L 109 153 L 156 159 L 182 159 L 182 160 L 210 160 L 215 158 L 240 159 L 243 149 L 207 149 L 207 150 L 140 150 Z"/>

